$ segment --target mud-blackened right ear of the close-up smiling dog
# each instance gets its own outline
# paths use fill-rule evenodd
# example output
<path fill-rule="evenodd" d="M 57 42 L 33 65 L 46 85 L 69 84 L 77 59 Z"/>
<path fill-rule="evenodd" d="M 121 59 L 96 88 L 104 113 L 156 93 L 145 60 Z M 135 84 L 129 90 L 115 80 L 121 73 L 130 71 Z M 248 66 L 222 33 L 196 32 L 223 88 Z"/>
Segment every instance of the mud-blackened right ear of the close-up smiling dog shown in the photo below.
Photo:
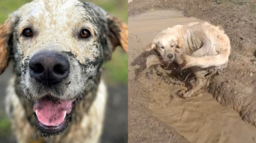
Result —
<path fill-rule="evenodd" d="M 93 21 L 98 24 L 101 34 L 101 43 L 105 60 L 111 59 L 111 55 L 117 46 L 122 46 L 128 52 L 128 26 L 117 17 L 108 14 L 105 10 L 92 3 L 83 3 L 84 8 L 93 14 Z"/>

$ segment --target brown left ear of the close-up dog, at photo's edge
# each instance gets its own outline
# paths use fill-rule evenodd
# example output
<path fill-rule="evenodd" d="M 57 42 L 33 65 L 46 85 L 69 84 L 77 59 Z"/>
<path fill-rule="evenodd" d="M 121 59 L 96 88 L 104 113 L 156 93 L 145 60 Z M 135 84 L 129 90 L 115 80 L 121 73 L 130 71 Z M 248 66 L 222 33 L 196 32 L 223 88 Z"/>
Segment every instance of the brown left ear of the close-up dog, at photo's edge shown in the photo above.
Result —
<path fill-rule="evenodd" d="M 10 57 L 9 40 L 14 29 L 14 17 L 11 15 L 8 20 L 0 26 L 0 74 L 8 66 Z"/>

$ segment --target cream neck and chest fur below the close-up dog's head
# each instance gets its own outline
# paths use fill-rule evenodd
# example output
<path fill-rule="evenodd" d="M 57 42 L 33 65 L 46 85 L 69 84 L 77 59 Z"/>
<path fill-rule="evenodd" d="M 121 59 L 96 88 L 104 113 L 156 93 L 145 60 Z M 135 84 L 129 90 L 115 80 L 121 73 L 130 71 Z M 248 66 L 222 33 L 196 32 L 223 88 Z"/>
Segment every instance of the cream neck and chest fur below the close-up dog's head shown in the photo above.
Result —
<path fill-rule="evenodd" d="M 14 79 L 9 82 L 6 95 L 6 112 L 11 117 L 12 128 L 15 131 L 19 143 L 29 143 L 38 140 L 36 128 L 31 126 L 25 115 L 25 109 L 16 95 Z M 107 100 L 107 89 L 103 80 L 100 81 L 96 99 L 93 101 L 87 114 L 84 114 L 82 122 L 71 122 L 69 128 L 62 134 L 45 138 L 49 143 L 97 143 L 103 128 L 104 111 Z M 77 107 L 79 108 L 79 107 Z M 81 107 L 82 108 L 82 107 Z M 14 110 L 14 111 L 11 111 Z M 13 117 L 14 116 L 14 117 Z M 76 119 L 73 119 L 76 120 Z M 89 135 L 88 135 L 89 133 Z"/>

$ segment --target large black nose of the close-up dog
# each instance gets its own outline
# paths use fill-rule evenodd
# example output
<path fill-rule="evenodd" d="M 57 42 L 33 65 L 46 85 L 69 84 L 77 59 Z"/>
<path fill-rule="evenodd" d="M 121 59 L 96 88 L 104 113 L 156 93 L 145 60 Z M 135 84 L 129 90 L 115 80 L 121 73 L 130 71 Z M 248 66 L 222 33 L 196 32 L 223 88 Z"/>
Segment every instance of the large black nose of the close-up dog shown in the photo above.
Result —
<path fill-rule="evenodd" d="M 29 62 L 30 75 L 43 84 L 58 84 L 69 76 L 69 60 L 58 52 L 36 53 Z"/>

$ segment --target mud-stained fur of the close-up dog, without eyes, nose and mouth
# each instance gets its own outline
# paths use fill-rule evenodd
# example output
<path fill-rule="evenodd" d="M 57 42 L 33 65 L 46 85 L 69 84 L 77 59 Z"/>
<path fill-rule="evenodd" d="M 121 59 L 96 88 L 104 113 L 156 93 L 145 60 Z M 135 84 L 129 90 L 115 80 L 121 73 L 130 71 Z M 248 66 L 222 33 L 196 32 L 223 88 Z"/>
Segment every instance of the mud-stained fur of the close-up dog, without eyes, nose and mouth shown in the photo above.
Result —
<path fill-rule="evenodd" d="M 34 32 L 31 39 L 21 35 L 27 27 Z M 81 28 L 89 28 L 92 36 L 80 39 Z M 14 75 L 7 90 L 6 111 L 17 141 L 38 140 L 33 102 L 51 94 L 63 100 L 82 95 L 82 101 L 75 105 L 67 129 L 43 138 L 44 142 L 99 142 L 107 98 L 106 86 L 100 80 L 102 64 L 119 45 L 128 52 L 128 26 L 91 3 L 35 0 L 10 15 L 0 26 L 0 73 L 12 57 Z M 31 57 L 44 50 L 68 57 L 71 71 L 61 84 L 43 86 L 30 77 Z"/>

